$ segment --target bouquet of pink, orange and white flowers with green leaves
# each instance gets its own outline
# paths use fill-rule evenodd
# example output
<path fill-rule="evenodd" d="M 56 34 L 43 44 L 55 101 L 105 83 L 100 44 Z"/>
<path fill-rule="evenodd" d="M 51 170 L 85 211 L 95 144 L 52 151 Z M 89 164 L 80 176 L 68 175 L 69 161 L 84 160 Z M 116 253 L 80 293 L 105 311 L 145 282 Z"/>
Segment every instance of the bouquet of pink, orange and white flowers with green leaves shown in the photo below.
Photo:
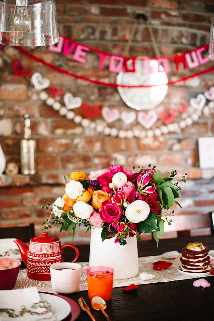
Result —
<path fill-rule="evenodd" d="M 42 222 L 44 229 L 59 223 L 60 231 L 69 234 L 82 223 L 87 231 L 101 228 L 103 241 L 116 236 L 115 243 L 121 245 L 126 244 L 127 237 L 153 233 L 158 246 L 157 235 L 164 233 L 164 222 L 169 225 L 172 222 L 166 213 L 173 215 L 174 211 L 168 211 L 174 203 L 181 207 L 175 200 L 181 189 L 174 180 L 177 172 L 172 169 L 163 178 L 155 166 L 149 165 L 138 172 L 134 169 L 117 165 L 115 158 L 108 170 L 91 171 L 88 177 L 82 171 L 73 171 L 69 182 L 65 178 L 63 197 L 58 197 L 52 207 L 44 201 L 42 208 L 51 211 L 46 223 Z M 181 177 L 184 183 L 186 175 Z"/>

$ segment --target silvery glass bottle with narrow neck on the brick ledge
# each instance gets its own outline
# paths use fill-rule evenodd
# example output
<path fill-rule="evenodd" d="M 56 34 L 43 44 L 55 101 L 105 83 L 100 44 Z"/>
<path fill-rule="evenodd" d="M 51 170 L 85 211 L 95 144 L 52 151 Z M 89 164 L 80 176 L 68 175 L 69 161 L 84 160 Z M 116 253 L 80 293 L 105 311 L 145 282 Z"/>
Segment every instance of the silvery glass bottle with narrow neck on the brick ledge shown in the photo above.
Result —
<path fill-rule="evenodd" d="M 21 172 L 25 175 L 36 173 L 36 142 L 31 137 L 31 120 L 24 115 L 24 139 L 21 140 Z"/>

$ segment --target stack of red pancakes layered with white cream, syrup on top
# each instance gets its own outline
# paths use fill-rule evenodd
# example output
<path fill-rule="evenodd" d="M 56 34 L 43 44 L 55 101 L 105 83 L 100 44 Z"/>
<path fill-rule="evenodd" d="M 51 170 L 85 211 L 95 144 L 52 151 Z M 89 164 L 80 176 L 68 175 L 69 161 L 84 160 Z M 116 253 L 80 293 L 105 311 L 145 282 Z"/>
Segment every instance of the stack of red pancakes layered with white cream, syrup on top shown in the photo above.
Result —
<path fill-rule="evenodd" d="M 181 267 L 185 272 L 205 273 L 211 270 L 209 266 L 209 248 L 202 243 L 189 243 L 182 248 Z"/>

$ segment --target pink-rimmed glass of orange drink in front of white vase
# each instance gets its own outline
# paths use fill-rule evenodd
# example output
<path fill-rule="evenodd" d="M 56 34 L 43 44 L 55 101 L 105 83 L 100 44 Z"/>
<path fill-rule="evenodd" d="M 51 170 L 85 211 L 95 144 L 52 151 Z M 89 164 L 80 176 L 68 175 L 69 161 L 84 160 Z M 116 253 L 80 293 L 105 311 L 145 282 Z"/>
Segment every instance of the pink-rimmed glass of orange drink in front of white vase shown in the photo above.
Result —
<path fill-rule="evenodd" d="M 88 298 L 101 297 L 105 301 L 111 299 L 114 269 L 109 266 L 88 267 Z"/>

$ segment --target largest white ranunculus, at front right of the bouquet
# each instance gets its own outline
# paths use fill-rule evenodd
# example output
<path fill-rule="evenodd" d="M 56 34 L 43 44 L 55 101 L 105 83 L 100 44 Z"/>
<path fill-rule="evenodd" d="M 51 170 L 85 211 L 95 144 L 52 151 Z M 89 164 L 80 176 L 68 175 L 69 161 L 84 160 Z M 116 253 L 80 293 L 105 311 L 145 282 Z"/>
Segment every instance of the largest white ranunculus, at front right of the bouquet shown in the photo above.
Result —
<path fill-rule="evenodd" d="M 146 202 L 136 200 L 126 208 L 125 215 L 130 222 L 139 223 L 147 219 L 149 212 L 150 207 Z"/>

